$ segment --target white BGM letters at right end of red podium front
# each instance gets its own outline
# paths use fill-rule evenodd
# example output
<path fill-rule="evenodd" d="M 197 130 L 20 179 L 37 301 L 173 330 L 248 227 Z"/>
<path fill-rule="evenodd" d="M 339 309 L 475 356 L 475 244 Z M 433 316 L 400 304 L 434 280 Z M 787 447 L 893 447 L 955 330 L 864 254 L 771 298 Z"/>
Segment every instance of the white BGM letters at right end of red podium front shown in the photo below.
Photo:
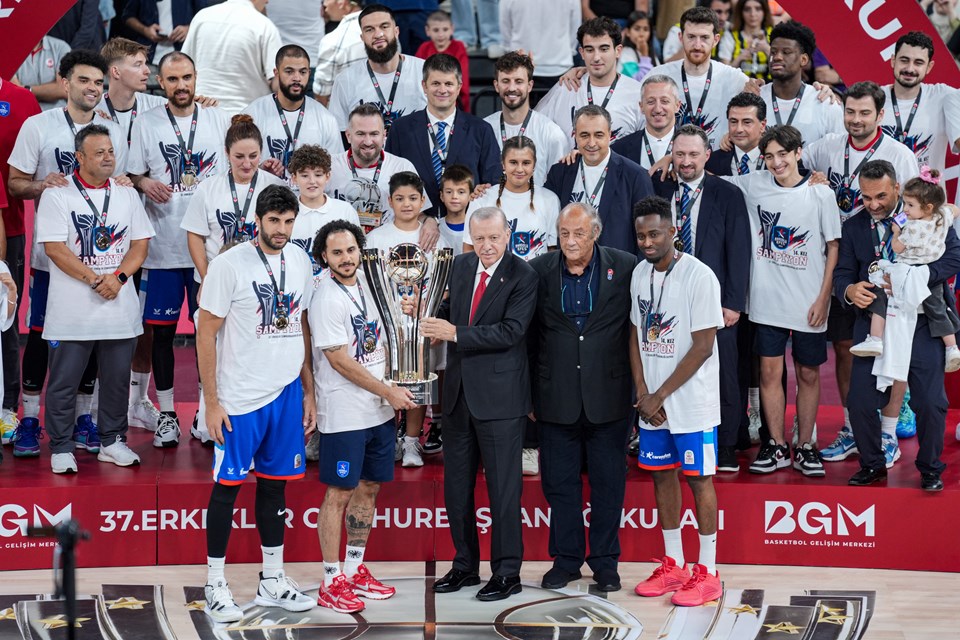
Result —
<path fill-rule="evenodd" d="M 876 536 L 875 516 L 876 505 L 854 513 L 839 503 L 832 509 L 822 502 L 807 502 L 796 509 L 792 502 L 767 500 L 764 503 L 763 531 L 786 536 L 799 527 L 801 532 L 810 536 L 873 538 Z"/>

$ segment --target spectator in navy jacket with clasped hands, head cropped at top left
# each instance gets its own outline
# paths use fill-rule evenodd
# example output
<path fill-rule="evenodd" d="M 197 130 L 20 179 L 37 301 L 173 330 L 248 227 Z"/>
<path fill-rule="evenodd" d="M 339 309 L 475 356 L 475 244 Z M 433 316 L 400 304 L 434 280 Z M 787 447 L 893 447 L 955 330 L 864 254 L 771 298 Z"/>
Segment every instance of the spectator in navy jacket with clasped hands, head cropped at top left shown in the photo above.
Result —
<path fill-rule="evenodd" d="M 147 60 L 154 64 L 183 47 L 190 21 L 206 0 L 129 0 L 121 17 L 137 34 L 137 42 L 150 47 Z"/>

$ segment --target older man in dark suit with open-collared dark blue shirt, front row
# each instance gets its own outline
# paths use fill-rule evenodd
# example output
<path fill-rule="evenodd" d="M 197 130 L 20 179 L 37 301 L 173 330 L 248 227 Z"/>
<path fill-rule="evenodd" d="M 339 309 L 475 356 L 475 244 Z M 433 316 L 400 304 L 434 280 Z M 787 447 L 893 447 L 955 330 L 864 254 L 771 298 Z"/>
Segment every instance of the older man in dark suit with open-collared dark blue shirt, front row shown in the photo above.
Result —
<path fill-rule="evenodd" d="M 550 504 L 553 568 L 545 589 L 581 577 L 582 452 L 590 479 L 590 556 L 601 591 L 620 589 L 620 514 L 632 415 L 630 278 L 636 256 L 596 244 L 602 223 L 582 202 L 560 212 L 560 251 L 530 262 L 539 276 L 530 331 L 533 408 L 540 423 L 543 493 Z"/>

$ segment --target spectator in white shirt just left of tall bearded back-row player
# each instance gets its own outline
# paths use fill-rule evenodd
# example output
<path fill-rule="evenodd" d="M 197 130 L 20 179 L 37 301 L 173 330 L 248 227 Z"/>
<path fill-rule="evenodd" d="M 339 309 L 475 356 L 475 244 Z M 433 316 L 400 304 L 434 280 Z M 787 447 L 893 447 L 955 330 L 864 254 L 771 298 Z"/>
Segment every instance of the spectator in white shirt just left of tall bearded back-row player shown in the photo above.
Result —
<path fill-rule="evenodd" d="M 329 107 L 334 78 L 351 62 L 363 60 L 367 53 L 360 38 L 359 0 L 323 0 L 323 15 L 330 22 L 339 23 L 320 40 L 313 76 L 313 95 Z"/>

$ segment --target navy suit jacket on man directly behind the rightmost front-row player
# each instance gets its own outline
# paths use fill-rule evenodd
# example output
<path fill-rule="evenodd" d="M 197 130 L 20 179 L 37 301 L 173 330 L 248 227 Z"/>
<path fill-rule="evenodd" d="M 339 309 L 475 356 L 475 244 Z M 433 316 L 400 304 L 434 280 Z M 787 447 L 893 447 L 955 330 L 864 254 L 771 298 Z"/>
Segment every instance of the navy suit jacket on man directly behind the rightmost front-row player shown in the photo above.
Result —
<path fill-rule="evenodd" d="M 657 173 L 653 185 L 658 196 L 673 200 L 676 181 L 661 182 Z M 750 284 L 750 220 L 743 193 L 726 180 L 707 174 L 699 201 L 693 255 L 720 281 L 720 305 L 743 311 Z"/>

